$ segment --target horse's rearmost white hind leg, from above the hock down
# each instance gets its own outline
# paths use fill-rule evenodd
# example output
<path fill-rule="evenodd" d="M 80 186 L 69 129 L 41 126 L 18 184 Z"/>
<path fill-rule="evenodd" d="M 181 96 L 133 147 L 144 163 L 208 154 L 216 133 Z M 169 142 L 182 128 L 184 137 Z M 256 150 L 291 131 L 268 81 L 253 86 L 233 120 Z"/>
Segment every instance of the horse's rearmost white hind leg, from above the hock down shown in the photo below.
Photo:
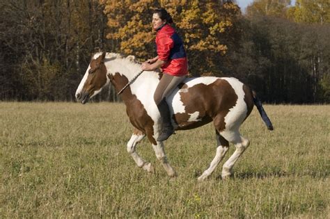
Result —
<path fill-rule="evenodd" d="M 250 141 L 247 138 L 244 138 L 239 134 L 239 131 L 223 131 L 221 132 L 221 135 L 230 141 L 230 143 L 233 143 L 236 147 L 235 152 L 232 156 L 226 161 L 226 163 L 223 164 L 221 177 L 222 179 L 226 179 L 227 177 L 230 177 L 230 175 L 233 174 L 233 166 L 235 165 L 237 159 L 239 159 L 239 156 L 243 154 L 245 149 L 249 147 Z"/>

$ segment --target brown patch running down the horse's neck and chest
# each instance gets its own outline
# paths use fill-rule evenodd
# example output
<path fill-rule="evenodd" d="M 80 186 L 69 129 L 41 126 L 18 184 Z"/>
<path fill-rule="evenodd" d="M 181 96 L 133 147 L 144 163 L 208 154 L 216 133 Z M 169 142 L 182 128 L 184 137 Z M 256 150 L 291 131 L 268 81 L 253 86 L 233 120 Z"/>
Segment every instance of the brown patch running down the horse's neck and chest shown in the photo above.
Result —
<path fill-rule="evenodd" d="M 128 83 L 127 77 L 121 75 L 118 72 L 116 72 L 116 74 L 114 75 L 109 74 L 109 78 L 117 92 Z M 139 99 L 137 99 L 136 95 L 132 94 L 131 88 L 129 88 L 129 86 L 123 91 L 121 97 L 126 105 L 126 113 L 129 117 L 129 121 L 136 129 L 143 133 L 146 133 L 150 143 L 152 143 L 153 145 L 157 145 L 157 142 L 153 137 L 154 121 L 148 115 L 146 109 L 139 101 Z"/>

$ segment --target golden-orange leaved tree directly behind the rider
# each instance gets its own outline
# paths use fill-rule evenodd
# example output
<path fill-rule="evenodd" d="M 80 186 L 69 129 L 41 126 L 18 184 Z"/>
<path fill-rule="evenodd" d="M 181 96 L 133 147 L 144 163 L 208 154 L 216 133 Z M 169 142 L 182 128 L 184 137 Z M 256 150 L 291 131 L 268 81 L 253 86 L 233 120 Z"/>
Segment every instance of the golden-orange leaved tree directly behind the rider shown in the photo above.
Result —
<path fill-rule="evenodd" d="M 141 60 L 155 56 L 152 10 L 166 8 L 184 41 L 191 74 L 221 74 L 220 57 L 234 44 L 233 32 L 238 32 L 234 24 L 240 10 L 228 1 L 101 2 L 108 16 L 107 38 L 117 40 L 119 52 Z"/>

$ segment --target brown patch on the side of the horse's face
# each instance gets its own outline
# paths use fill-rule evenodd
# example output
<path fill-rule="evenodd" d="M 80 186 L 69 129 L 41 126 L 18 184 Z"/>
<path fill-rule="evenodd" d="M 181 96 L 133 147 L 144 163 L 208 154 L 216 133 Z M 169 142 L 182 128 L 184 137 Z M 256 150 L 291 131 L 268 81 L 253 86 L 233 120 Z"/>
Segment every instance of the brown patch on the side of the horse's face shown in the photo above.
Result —
<path fill-rule="evenodd" d="M 104 65 L 105 53 L 91 60 L 91 69 L 88 70 L 88 77 L 83 90 L 93 95 L 95 90 L 100 90 L 107 83 L 107 67 Z"/>

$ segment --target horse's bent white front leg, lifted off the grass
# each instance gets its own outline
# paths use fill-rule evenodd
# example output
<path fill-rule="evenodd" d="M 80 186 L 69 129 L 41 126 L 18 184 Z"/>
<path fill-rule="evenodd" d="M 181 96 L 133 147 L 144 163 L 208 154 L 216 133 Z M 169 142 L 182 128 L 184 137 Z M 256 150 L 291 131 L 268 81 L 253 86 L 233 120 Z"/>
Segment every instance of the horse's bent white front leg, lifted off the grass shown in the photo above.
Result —
<path fill-rule="evenodd" d="M 139 166 L 139 168 L 143 168 L 143 170 L 147 170 L 148 172 L 153 172 L 151 163 L 144 161 L 142 157 L 135 150 L 136 145 L 144 137 L 146 137 L 145 133 L 139 131 L 138 129 L 135 129 L 131 139 L 129 139 L 127 143 L 127 152 L 132 156 L 133 160 L 135 161 L 136 165 Z"/>

